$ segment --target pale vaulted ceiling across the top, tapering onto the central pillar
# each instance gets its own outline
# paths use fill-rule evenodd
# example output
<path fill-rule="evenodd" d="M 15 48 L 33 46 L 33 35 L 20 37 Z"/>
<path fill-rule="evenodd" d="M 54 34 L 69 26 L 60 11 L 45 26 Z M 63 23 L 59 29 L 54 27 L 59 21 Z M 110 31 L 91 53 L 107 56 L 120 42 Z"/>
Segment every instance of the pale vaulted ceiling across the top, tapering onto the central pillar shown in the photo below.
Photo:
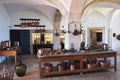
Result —
<path fill-rule="evenodd" d="M 104 5 L 106 2 L 120 4 L 120 0 L 0 0 L 0 3 L 7 7 L 6 10 L 8 13 L 10 13 L 10 7 L 12 8 L 13 5 L 30 6 L 37 10 L 40 10 L 39 6 L 47 6 L 47 8 L 59 9 L 62 15 L 68 18 L 69 21 L 76 22 L 80 21 L 87 7 L 100 2 L 103 2 L 102 5 L 98 4 L 93 7 L 114 7 L 109 4 Z"/>

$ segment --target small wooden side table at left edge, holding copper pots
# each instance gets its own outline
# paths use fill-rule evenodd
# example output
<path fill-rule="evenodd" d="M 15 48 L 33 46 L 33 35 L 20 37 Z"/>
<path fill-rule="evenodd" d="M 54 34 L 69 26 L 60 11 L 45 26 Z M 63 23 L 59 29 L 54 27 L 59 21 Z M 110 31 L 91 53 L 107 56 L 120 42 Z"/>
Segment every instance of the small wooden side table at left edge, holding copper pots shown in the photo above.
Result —
<path fill-rule="evenodd" d="M 0 50 L 0 56 L 14 56 L 15 64 L 17 63 L 16 50 Z"/>

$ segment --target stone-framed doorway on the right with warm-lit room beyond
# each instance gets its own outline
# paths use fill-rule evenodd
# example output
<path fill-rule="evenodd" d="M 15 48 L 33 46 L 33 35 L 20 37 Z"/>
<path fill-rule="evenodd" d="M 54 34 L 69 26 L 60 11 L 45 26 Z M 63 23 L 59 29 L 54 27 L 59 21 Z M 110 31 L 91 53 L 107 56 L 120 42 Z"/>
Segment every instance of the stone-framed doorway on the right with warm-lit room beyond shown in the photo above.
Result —
<path fill-rule="evenodd" d="M 104 28 L 88 29 L 88 44 L 91 49 L 96 49 L 104 42 Z"/>

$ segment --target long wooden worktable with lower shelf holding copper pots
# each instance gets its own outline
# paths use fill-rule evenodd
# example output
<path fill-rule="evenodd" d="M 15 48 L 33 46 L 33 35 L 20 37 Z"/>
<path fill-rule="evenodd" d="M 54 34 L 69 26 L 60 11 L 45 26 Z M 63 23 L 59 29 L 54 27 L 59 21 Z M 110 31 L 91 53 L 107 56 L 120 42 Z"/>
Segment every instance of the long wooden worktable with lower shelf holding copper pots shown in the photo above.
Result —
<path fill-rule="evenodd" d="M 69 54 L 69 53 L 68 53 Z M 94 69 L 88 69 L 84 67 L 84 60 L 86 59 L 92 59 L 92 58 L 109 58 L 112 57 L 114 58 L 114 64 L 111 64 L 109 67 L 100 67 L 97 66 Z M 78 60 L 80 61 L 80 69 L 75 69 L 75 70 L 63 70 L 63 71 L 56 71 L 53 70 L 52 72 L 44 72 L 42 65 L 47 62 L 59 62 L 59 61 L 65 61 L 65 60 Z M 46 77 L 46 76 L 54 76 L 54 75 L 64 75 L 64 74 L 73 74 L 73 73 L 83 73 L 83 72 L 88 72 L 88 71 L 96 71 L 96 70 L 105 70 L 105 69 L 112 69 L 116 71 L 117 69 L 117 61 L 116 61 L 116 52 L 114 51 L 102 51 L 102 52 L 88 52 L 85 54 L 81 53 L 73 53 L 71 55 L 50 55 L 50 56 L 42 56 L 39 59 L 39 70 L 40 70 L 40 76 L 41 77 Z"/>

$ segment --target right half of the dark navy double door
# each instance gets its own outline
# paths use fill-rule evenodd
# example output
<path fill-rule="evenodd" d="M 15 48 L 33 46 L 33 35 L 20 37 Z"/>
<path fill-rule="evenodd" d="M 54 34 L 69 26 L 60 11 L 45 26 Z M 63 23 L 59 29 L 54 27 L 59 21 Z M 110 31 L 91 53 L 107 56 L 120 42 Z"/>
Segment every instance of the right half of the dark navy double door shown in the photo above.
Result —
<path fill-rule="evenodd" d="M 30 54 L 29 30 L 20 30 L 20 47 L 21 47 L 22 54 Z"/>

